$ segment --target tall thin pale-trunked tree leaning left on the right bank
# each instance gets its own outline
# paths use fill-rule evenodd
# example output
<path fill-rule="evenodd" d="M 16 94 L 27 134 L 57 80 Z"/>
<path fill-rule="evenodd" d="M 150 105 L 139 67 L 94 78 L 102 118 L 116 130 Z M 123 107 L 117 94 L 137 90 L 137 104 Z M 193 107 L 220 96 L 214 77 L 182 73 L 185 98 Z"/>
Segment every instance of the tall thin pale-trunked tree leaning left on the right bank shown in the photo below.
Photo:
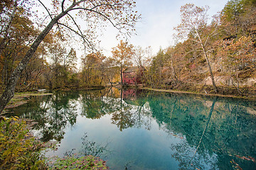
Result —
<path fill-rule="evenodd" d="M 186 4 L 181 6 L 181 24 L 179 24 L 175 29 L 178 31 L 178 36 L 181 38 L 191 38 L 200 45 L 201 52 L 206 58 L 208 64 L 208 70 L 210 72 L 210 78 L 213 82 L 213 89 L 215 93 L 218 92 L 215 80 L 213 77 L 213 72 L 210 66 L 210 60 L 208 57 L 207 44 L 210 38 L 216 35 L 216 24 L 213 25 L 213 29 L 207 26 L 207 11 L 208 7 L 198 7 L 194 4 Z M 188 37 L 189 36 L 189 37 Z"/>

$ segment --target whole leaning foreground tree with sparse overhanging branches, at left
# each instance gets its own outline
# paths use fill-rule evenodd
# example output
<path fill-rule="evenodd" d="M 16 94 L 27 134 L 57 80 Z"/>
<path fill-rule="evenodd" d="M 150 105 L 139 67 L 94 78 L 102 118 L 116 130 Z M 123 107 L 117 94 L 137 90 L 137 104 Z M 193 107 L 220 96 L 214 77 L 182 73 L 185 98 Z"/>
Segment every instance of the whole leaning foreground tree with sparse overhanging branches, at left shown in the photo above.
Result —
<path fill-rule="evenodd" d="M 44 6 L 41 1 L 39 2 L 43 5 L 43 7 L 46 8 L 46 6 Z M 93 27 L 97 28 L 102 26 L 102 23 L 111 23 L 112 26 L 119 30 L 119 33 L 125 33 L 126 35 L 132 33 L 130 28 L 134 30 L 134 25 L 140 18 L 140 16 L 137 15 L 137 11 L 133 11 L 135 4 L 136 3 L 133 0 L 53 1 L 52 13 L 50 13 L 50 10 L 46 8 L 50 22 L 43 28 L 42 32 L 36 36 L 36 39 L 29 47 L 26 55 L 24 55 L 23 59 L 18 64 L 18 67 L 16 67 L 14 72 L 11 74 L 10 79 L 8 80 L 4 94 L 2 94 L 0 97 L 0 113 L 4 110 L 7 103 L 9 103 L 11 98 L 14 96 L 15 86 L 19 77 L 21 77 L 23 69 L 26 68 L 29 60 L 31 57 L 33 57 L 33 54 L 36 52 L 42 40 L 54 26 L 57 25 L 58 29 L 61 27 L 73 31 L 74 33 L 80 35 L 86 47 L 94 48 L 95 46 L 92 44 L 90 37 L 92 34 L 90 33 L 92 33 L 92 30 L 95 30 Z M 80 26 L 73 17 L 74 14 L 80 15 L 80 17 L 84 19 L 84 21 L 87 23 L 87 26 L 89 26 L 87 30 L 84 32 L 81 30 Z M 73 22 L 72 26 L 61 23 L 63 19 L 68 18 L 71 22 Z"/>

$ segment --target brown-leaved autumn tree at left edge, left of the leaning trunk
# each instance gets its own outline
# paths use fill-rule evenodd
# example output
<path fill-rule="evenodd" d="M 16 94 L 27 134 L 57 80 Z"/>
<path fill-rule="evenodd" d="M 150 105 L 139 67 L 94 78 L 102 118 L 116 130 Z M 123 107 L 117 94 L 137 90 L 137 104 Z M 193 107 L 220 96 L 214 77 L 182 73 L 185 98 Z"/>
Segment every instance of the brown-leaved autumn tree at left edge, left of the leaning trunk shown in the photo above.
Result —
<path fill-rule="evenodd" d="M 28 18 L 31 13 L 26 6 L 18 4 L 18 1 L 5 2 L 7 5 L 1 2 L 5 5 L 0 19 L 0 72 L 3 86 L 6 86 L 11 72 L 21 61 L 37 33 L 32 21 Z"/>

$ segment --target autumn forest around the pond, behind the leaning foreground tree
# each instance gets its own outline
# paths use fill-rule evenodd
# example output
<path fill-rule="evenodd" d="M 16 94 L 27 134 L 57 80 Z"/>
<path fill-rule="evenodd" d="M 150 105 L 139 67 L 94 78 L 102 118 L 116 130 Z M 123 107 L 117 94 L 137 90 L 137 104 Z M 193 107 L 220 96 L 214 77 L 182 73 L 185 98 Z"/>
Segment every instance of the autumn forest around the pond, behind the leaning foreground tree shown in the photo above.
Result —
<path fill-rule="evenodd" d="M 0 4 L 1 93 L 9 86 L 11 74 L 42 30 L 35 24 L 39 21 L 31 17 L 36 15 L 31 10 L 35 4 L 24 2 L 6 0 Z M 153 89 L 252 93 L 256 84 L 256 1 L 228 1 L 213 18 L 208 17 L 208 8 L 193 4 L 181 6 L 181 23 L 174 28 L 176 44 L 159 49 L 156 55 L 152 55 L 151 47 L 143 49 L 120 40 L 112 48 L 112 56 L 106 57 L 90 45 L 90 38 L 85 39 L 93 34 L 87 30 L 81 43 L 87 42 L 92 50 L 78 56 L 72 45 L 78 43 L 74 35 L 68 30 L 52 29 L 22 70 L 15 91 L 113 86 L 121 82 L 124 69 L 137 66 L 145 68 L 144 86 Z M 64 24 L 58 27 L 73 30 Z"/>

